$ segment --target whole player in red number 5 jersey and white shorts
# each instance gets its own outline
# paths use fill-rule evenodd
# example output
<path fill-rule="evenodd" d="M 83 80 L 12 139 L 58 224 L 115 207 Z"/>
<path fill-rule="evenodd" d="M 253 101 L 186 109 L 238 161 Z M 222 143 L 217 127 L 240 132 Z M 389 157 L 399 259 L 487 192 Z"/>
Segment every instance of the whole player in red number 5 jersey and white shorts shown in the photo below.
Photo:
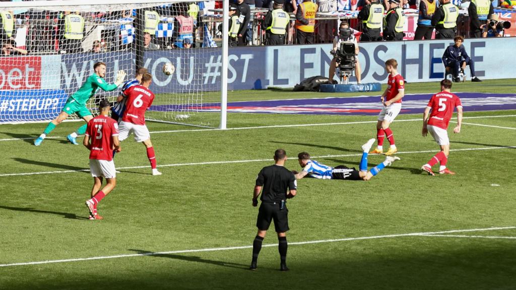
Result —
<path fill-rule="evenodd" d="M 446 168 L 448 155 L 450 153 L 450 141 L 448 139 L 448 123 L 453 115 L 454 107 L 457 108 L 457 126 L 453 132 L 460 133 L 460 125 L 462 123 L 462 104 L 457 95 L 450 93 L 451 81 L 448 79 L 441 80 L 441 92 L 434 94 L 423 113 L 423 137 L 432 135 L 433 139 L 439 143 L 441 151 L 437 153 L 428 161 L 427 164 L 421 167 L 422 170 L 428 172 L 430 175 L 435 175 L 432 171 L 432 166 L 441 162 L 439 173 L 441 174 L 455 174 Z M 430 113 L 430 109 L 432 112 Z M 430 113 L 430 118 L 428 115 Z"/>

